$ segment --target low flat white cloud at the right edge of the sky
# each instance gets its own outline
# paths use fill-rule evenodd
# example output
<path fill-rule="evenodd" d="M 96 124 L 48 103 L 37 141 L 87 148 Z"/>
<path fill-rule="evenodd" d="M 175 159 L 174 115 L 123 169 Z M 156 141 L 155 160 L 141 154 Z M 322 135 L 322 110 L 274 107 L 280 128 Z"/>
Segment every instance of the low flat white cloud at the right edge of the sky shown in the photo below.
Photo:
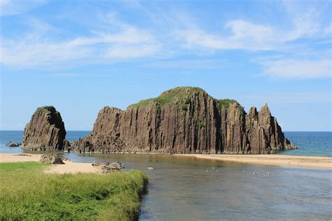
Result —
<path fill-rule="evenodd" d="M 332 75 L 331 59 L 281 59 L 265 62 L 263 66 L 263 73 L 279 78 L 326 78 Z"/>

